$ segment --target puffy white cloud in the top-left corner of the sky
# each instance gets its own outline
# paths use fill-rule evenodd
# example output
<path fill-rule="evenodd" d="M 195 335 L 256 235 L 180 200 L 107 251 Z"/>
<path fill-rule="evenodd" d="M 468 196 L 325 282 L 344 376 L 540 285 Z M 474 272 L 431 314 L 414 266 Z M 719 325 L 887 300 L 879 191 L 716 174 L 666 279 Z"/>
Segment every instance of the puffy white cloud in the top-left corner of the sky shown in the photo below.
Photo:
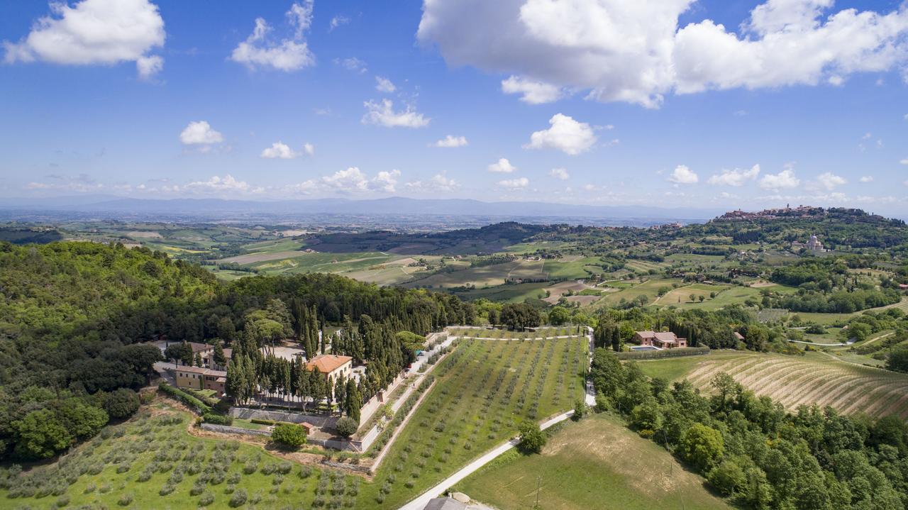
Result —
<path fill-rule="evenodd" d="M 35 62 L 89 65 L 135 62 L 139 76 L 161 71 L 163 58 L 149 52 L 164 44 L 164 22 L 148 0 L 51 2 L 51 15 L 35 22 L 18 43 L 3 42 L 6 64 Z"/>

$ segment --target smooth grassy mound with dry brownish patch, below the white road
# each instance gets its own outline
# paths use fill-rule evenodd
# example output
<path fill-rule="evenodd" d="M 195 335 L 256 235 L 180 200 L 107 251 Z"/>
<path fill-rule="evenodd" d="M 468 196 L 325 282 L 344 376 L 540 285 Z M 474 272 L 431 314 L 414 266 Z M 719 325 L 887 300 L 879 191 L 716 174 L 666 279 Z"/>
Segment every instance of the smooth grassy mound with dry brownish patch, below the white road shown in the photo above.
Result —
<path fill-rule="evenodd" d="M 508 509 L 727 509 L 700 476 L 620 418 L 594 415 L 561 427 L 542 454 L 511 450 L 460 482 L 457 490 Z"/>

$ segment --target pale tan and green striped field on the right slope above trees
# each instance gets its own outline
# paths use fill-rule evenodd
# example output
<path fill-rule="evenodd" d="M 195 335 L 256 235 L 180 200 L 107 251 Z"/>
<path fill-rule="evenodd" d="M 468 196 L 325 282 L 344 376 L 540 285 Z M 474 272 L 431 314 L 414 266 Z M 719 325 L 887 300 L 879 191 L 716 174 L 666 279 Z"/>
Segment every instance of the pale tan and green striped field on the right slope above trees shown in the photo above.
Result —
<path fill-rule="evenodd" d="M 712 357 L 710 357 L 712 358 Z M 647 362 L 658 375 L 660 362 Z M 671 361 L 669 361 L 671 363 Z M 666 367 L 667 368 L 667 367 Z M 831 406 L 845 414 L 908 418 L 908 376 L 845 363 L 821 353 L 804 358 L 778 355 L 719 355 L 703 359 L 676 374 L 706 388 L 716 374 L 727 372 L 757 395 L 773 397 L 788 409 L 800 405 Z"/>

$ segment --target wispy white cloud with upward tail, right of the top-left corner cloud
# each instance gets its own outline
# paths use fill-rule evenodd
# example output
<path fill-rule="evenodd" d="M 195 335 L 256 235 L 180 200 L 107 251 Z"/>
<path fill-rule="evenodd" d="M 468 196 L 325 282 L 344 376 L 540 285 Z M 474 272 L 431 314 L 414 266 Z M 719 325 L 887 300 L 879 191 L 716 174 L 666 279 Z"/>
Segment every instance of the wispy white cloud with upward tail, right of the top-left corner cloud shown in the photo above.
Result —
<path fill-rule="evenodd" d="M 268 37 L 271 25 L 264 18 L 255 19 L 255 28 L 245 41 L 233 49 L 230 58 L 249 69 L 274 69 L 299 71 L 315 64 L 315 55 L 309 49 L 305 32 L 312 24 L 313 0 L 294 3 L 287 11 L 287 19 L 294 29 L 291 37 L 275 42 Z"/>

